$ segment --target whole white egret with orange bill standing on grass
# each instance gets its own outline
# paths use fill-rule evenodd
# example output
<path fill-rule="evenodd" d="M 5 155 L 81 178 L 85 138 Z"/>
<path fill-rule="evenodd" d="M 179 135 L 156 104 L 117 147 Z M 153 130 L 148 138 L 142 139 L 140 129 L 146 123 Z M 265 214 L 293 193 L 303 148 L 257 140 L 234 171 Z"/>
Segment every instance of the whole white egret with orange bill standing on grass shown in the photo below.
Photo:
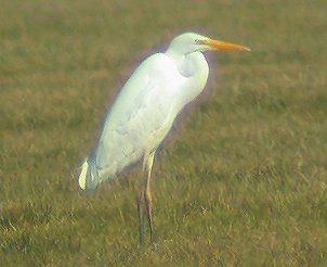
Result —
<path fill-rule="evenodd" d="M 138 194 L 141 243 L 144 214 L 154 241 L 151 178 L 156 150 L 178 114 L 202 92 L 209 67 L 201 52 L 214 49 L 250 51 L 239 44 L 186 33 L 175 37 L 165 53 L 144 60 L 113 103 L 100 139 L 82 164 L 79 186 L 88 190 L 143 158 L 144 178 Z"/>

